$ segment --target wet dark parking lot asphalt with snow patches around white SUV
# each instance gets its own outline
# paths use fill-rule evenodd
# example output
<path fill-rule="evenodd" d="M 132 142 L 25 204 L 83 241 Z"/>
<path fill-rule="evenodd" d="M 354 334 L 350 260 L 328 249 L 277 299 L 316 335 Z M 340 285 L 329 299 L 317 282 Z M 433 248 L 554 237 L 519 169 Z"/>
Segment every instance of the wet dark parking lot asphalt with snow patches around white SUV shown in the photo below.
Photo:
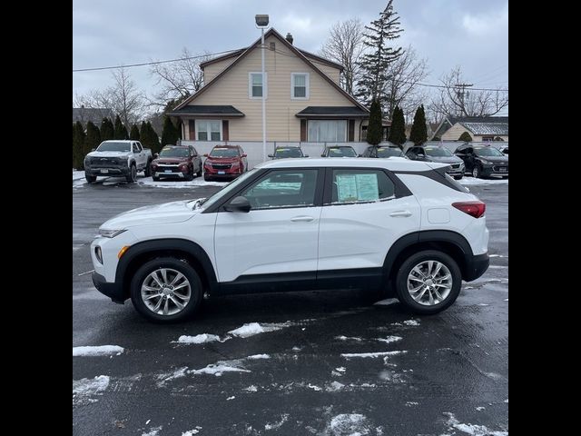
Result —
<path fill-rule="evenodd" d="M 212 298 L 190 322 L 155 325 L 94 289 L 101 223 L 219 189 L 74 187 L 73 346 L 123 347 L 73 358 L 74 435 L 507 434 L 507 183 L 469 186 L 487 203 L 491 264 L 437 315 L 336 290 Z M 265 332 L 229 333 L 244 324 Z M 202 333 L 219 340 L 179 342 Z"/>

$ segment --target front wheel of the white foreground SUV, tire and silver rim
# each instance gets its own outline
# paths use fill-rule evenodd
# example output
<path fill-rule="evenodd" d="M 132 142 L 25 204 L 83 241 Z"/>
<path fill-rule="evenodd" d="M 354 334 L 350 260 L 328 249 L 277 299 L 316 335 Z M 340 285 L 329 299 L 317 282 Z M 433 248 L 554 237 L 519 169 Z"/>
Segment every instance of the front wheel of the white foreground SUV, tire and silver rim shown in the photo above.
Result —
<path fill-rule="evenodd" d="M 180 322 L 202 302 L 202 281 L 192 265 L 173 257 L 144 263 L 131 281 L 133 306 L 153 322 Z"/>

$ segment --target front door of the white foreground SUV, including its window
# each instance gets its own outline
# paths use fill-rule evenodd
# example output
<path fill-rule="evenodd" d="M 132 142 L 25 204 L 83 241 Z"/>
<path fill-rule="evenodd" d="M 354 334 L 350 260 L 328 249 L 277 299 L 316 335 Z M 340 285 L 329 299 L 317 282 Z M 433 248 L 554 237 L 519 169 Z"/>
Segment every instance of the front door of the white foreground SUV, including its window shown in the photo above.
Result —
<path fill-rule="evenodd" d="M 249 213 L 218 213 L 214 246 L 220 282 L 257 274 L 317 271 L 322 170 L 270 170 L 233 196 L 251 203 Z"/>

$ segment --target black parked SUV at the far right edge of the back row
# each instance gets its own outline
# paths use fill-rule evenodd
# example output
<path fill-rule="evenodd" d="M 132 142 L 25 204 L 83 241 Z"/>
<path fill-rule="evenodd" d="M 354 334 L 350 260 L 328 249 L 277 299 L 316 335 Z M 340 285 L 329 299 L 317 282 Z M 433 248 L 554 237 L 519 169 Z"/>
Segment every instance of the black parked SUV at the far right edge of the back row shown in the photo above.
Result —
<path fill-rule="evenodd" d="M 463 144 L 456 155 L 466 164 L 466 171 L 473 177 L 501 176 L 508 178 L 508 156 L 490 145 Z"/>

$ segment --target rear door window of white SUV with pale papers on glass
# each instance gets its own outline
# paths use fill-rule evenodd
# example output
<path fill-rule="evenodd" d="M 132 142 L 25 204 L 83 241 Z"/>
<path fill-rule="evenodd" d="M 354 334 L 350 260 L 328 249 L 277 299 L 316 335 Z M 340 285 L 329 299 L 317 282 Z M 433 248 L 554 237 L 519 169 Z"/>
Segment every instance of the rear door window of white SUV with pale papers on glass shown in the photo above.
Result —
<path fill-rule="evenodd" d="M 381 170 L 334 169 L 331 203 L 368 203 L 395 198 L 395 185 Z"/>

